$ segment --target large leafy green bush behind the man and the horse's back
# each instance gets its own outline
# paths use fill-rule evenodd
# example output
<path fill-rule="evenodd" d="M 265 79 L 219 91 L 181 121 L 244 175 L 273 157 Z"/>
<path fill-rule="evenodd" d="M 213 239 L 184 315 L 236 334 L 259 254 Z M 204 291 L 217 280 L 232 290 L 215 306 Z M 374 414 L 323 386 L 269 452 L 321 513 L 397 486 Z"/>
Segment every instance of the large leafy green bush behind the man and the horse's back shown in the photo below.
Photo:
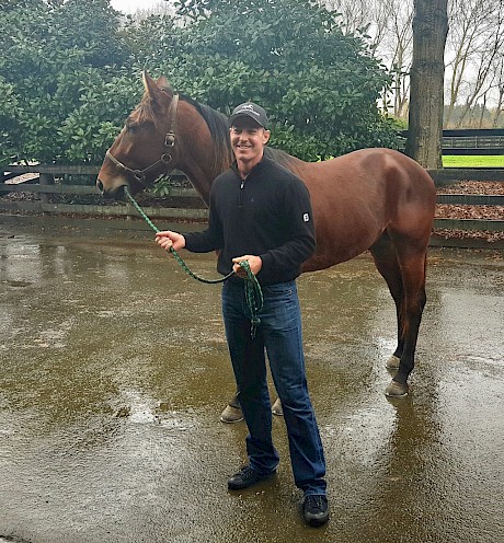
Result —
<path fill-rule="evenodd" d="M 274 145 L 306 160 L 397 146 L 377 107 L 388 73 L 335 12 L 305 0 L 188 0 L 177 16 L 183 28 L 150 28 L 162 49 L 148 55 L 179 90 L 226 114 L 260 102 Z"/>

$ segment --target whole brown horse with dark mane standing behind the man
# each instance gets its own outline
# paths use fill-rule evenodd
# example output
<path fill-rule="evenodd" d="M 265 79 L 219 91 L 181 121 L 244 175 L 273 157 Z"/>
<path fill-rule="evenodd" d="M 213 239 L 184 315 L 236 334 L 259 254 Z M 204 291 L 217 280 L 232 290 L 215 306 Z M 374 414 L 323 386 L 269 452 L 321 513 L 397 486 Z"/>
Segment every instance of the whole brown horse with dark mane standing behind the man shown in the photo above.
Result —
<path fill-rule="evenodd" d="M 182 170 L 208 204 L 214 178 L 231 163 L 228 119 L 174 94 L 164 77 L 144 74 L 145 94 L 106 153 L 98 186 L 122 196 L 150 186 L 169 170 Z M 267 154 L 307 185 L 313 207 L 317 251 L 303 272 L 324 269 L 369 250 L 396 302 L 398 346 L 387 362 L 397 369 L 389 396 L 408 394 L 408 377 L 426 302 L 426 252 L 435 187 L 416 162 L 390 149 L 363 149 L 308 163 L 282 151 Z"/>

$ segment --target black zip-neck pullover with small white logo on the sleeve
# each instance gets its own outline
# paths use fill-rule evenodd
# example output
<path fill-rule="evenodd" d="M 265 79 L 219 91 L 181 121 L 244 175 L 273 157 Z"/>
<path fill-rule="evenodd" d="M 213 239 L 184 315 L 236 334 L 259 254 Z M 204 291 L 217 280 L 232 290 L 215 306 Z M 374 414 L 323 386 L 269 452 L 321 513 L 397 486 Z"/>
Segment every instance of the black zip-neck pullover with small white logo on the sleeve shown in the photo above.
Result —
<path fill-rule="evenodd" d="M 265 157 L 245 181 L 233 162 L 214 181 L 207 230 L 184 236 L 194 253 L 218 250 L 217 270 L 222 275 L 231 272 L 232 258 L 249 254 L 263 261 L 261 285 L 293 280 L 316 249 L 308 189 Z"/>

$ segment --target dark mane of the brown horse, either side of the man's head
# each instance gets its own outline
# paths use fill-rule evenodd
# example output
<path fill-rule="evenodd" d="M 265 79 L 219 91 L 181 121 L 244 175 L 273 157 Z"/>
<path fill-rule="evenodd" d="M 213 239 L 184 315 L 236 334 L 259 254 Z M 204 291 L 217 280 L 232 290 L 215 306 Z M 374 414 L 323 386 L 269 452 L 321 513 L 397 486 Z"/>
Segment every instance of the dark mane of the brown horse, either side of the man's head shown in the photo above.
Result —
<path fill-rule="evenodd" d="M 181 99 L 188 102 L 199 115 L 204 118 L 210 131 L 211 139 L 215 143 L 215 165 L 216 171 L 224 171 L 229 166 L 232 160 L 231 143 L 229 141 L 229 119 L 220 112 L 216 112 L 207 105 L 203 105 L 195 100 L 182 95 Z M 294 165 L 295 159 L 287 154 L 285 151 L 279 149 L 274 149 L 266 146 L 264 148 L 264 155 L 271 160 L 274 160 L 284 167 L 291 169 L 289 166 Z"/>

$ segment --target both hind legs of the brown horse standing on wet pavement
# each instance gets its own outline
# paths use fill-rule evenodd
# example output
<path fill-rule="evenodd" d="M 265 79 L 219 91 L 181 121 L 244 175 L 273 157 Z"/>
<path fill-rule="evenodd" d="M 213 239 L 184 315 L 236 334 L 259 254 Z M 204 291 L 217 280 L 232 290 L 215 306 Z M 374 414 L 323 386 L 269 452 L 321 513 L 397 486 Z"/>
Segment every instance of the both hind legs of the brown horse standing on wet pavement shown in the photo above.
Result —
<path fill-rule="evenodd" d="M 398 373 L 387 386 L 386 394 L 404 396 L 409 391 L 408 378 L 414 368 L 420 322 L 426 302 L 426 247 L 405 246 L 398 251 L 397 242 L 385 232 L 370 252 L 396 302 L 398 319 L 398 346 L 387 362 L 389 368 L 398 369 Z"/>

